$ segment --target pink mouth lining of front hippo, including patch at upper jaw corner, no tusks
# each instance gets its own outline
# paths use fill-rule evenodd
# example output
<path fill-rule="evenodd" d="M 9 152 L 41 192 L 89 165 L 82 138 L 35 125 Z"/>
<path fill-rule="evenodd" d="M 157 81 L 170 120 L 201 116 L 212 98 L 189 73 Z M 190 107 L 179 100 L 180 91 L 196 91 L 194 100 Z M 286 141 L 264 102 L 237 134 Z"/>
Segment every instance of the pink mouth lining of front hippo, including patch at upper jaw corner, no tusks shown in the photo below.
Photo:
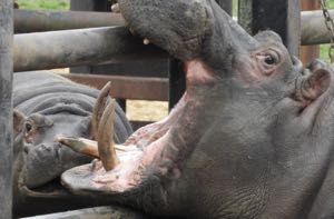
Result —
<path fill-rule="evenodd" d="M 214 80 L 213 73 L 200 61 L 189 61 L 185 67 L 187 86 Z M 122 192 L 138 186 L 141 182 L 143 172 L 148 166 L 157 160 L 159 163 L 174 160 L 168 152 L 164 152 L 164 149 L 169 145 L 169 130 L 178 122 L 189 98 L 189 93 L 185 92 L 166 119 L 143 127 L 131 135 L 124 143 L 131 149 L 126 152 L 117 152 L 120 163 L 115 169 L 106 171 L 101 161 L 96 160 L 91 165 L 66 171 L 61 176 L 63 185 L 72 192 L 104 190 L 111 193 Z M 163 175 L 168 171 L 164 165 L 158 165 L 156 168 Z M 177 168 L 174 171 L 178 172 Z"/>

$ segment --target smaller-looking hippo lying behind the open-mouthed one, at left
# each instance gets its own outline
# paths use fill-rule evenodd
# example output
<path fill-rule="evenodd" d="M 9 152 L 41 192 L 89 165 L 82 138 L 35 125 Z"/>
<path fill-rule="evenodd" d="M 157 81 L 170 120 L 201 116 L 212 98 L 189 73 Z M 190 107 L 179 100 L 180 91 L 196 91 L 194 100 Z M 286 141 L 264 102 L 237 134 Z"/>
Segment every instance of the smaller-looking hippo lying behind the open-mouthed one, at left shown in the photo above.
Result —
<path fill-rule="evenodd" d="M 92 138 L 90 119 L 98 93 L 50 71 L 14 73 L 14 216 L 94 205 L 61 190 L 57 179 L 65 170 L 88 163 L 91 158 L 60 146 L 55 138 L 59 135 Z M 118 142 L 131 133 L 118 106 L 115 130 Z"/>

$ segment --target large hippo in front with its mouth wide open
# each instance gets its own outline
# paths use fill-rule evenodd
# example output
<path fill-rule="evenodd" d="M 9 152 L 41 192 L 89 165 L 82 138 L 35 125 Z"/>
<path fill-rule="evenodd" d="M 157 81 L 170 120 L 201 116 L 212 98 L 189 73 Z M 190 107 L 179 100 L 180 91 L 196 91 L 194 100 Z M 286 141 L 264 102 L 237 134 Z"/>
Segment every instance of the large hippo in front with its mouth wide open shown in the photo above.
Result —
<path fill-rule="evenodd" d="M 65 171 L 67 189 L 156 216 L 334 217 L 326 64 L 304 69 L 276 33 L 248 36 L 215 0 L 118 3 L 134 32 L 184 61 L 186 92 L 167 119 L 129 137 L 121 153 L 104 132 L 98 146 L 65 142 L 100 158 Z"/>

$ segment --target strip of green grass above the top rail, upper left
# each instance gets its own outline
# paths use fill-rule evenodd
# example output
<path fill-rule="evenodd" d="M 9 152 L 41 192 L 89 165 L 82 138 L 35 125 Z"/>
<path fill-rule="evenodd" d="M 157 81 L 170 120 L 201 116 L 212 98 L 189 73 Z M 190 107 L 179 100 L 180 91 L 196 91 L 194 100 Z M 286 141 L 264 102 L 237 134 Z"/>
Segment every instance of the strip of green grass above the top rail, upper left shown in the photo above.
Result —
<path fill-rule="evenodd" d="M 17 0 L 17 2 L 20 9 L 69 9 L 69 0 Z"/>

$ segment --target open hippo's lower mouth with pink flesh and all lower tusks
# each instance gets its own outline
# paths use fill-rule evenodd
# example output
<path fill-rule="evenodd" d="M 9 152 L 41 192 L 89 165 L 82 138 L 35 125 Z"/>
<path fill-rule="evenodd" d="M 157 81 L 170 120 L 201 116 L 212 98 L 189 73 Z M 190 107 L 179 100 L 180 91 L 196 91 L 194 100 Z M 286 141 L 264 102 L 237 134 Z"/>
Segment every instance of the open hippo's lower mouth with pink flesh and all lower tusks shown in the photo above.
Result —
<path fill-rule="evenodd" d="M 191 83 L 209 83 L 214 79 L 199 61 L 186 63 L 186 69 L 187 80 Z M 181 158 L 196 146 L 194 143 L 194 148 L 186 148 L 189 145 L 186 139 L 194 133 L 194 109 L 200 108 L 200 102 L 191 98 L 191 90 L 185 92 L 166 119 L 140 128 L 124 145 L 115 145 L 110 135 L 114 132 L 114 101 L 106 102 L 109 89 L 107 84 L 97 101 L 100 104 L 97 108 L 101 109 L 94 118 L 97 141 L 71 137 L 58 139 L 77 152 L 97 158 L 90 165 L 62 173 L 63 186 L 79 195 L 82 191 L 101 191 L 104 188 L 104 192 L 118 193 L 139 187 L 151 173 L 157 177 L 180 177 Z M 196 138 L 191 139 L 196 141 Z"/>

